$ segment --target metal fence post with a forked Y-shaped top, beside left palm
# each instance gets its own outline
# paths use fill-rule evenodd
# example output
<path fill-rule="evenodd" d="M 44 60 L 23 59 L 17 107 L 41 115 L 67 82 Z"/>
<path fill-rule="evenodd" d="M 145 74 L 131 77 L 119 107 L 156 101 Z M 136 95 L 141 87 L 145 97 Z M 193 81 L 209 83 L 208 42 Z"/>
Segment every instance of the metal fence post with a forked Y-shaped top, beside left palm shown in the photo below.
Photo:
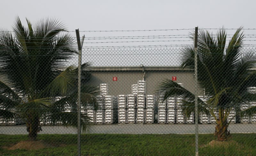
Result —
<path fill-rule="evenodd" d="M 78 83 L 77 83 L 77 155 L 81 155 L 81 66 L 82 66 L 82 46 L 84 36 L 80 42 L 79 29 L 76 29 L 76 40 L 78 46 Z"/>

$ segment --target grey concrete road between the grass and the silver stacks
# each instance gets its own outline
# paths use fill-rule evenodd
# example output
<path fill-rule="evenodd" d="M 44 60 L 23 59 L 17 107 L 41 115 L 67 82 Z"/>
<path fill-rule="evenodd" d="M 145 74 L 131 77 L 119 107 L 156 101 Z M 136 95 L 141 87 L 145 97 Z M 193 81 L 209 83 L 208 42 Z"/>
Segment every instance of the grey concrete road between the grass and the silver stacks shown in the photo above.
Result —
<path fill-rule="evenodd" d="M 215 124 L 199 124 L 199 133 L 214 133 Z M 39 134 L 76 134 L 77 130 L 64 126 L 42 126 Z M 230 124 L 231 133 L 256 133 L 256 123 Z M 106 134 L 193 134 L 195 124 L 98 124 L 90 133 Z M 25 125 L 0 126 L 0 134 L 28 134 Z"/>

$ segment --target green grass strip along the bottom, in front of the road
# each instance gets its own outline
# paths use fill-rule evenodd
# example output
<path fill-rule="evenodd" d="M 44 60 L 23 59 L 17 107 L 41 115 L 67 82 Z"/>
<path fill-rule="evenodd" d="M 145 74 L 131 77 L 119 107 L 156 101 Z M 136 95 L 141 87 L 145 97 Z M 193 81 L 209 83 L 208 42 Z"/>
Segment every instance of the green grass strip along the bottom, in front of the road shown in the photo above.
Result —
<path fill-rule="evenodd" d="M 0 135 L 0 155 L 77 155 L 77 136 L 40 134 L 38 140 L 65 146 L 40 150 L 3 148 L 27 140 L 27 135 Z M 199 155 L 256 155 L 256 134 L 232 134 L 237 145 L 204 147 L 213 134 L 199 135 Z M 88 134 L 81 137 L 82 155 L 195 155 L 195 135 Z"/>

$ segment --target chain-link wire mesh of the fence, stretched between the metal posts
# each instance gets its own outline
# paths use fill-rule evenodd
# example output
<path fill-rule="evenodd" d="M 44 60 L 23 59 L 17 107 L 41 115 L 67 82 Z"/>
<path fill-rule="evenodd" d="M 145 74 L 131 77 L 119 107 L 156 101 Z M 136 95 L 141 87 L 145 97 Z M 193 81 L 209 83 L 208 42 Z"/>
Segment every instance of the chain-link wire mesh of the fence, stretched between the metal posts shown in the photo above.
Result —
<path fill-rule="evenodd" d="M 207 31 L 198 32 L 198 88 L 193 36 L 89 37 L 190 42 L 82 49 L 81 154 L 254 155 L 256 55 L 255 47 L 244 43 L 253 36 L 241 29 L 234 35 Z M 0 152 L 24 148 L 23 143 L 27 150 L 65 149 L 76 155 L 80 86 L 74 38 L 21 32 L 14 32 L 15 38 L 13 32 L 0 35 Z"/>

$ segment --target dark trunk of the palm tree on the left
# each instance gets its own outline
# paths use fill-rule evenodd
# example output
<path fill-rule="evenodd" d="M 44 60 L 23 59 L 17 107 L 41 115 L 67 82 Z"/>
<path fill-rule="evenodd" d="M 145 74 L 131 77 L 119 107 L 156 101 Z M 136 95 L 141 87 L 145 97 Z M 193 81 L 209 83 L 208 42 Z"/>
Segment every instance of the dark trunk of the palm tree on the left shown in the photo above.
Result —
<path fill-rule="evenodd" d="M 39 117 L 30 114 L 28 116 L 27 131 L 30 140 L 36 140 L 39 127 Z"/>

